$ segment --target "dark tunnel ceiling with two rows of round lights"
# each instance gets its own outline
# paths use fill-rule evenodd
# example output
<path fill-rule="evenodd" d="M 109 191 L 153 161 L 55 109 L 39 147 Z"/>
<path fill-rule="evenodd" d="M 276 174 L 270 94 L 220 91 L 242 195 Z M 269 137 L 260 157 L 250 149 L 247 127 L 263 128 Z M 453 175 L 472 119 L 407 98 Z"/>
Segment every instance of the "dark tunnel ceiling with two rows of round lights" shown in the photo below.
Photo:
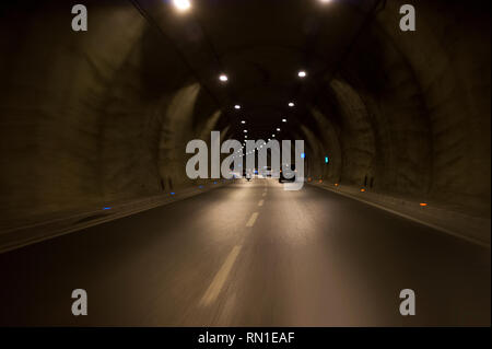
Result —
<path fill-rule="evenodd" d="M 232 126 L 229 136 L 241 140 L 241 120 L 247 121 L 249 139 L 272 133 L 292 139 L 300 124 L 312 126 L 307 107 L 317 103 L 316 92 L 340 69 L 383 1 L 206 0 L 178 15 L 162 1 L 138 4 L 225 112 L 222 126 Z M 305 79 L 297 77 L 302 70 Z M 226 83 L 219 81 L 221 73 L 227 74 Z M 289 121 L 282 124 L 283 118 Z"/>

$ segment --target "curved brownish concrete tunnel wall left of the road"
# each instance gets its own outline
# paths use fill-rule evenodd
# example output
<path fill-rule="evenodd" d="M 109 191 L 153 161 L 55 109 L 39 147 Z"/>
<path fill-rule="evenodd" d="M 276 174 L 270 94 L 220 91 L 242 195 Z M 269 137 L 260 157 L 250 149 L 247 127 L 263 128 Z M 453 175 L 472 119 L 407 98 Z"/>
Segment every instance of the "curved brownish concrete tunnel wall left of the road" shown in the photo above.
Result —
<path fill-rule="evenodd" d="M 25 3 L 0 23 L 2 221 L 195 183 L 186 142 L 210 135 L 221 113 L 198 115 L 210 96 L 130 2 L 87 7 L 85 33 L 59 3 Z"/>

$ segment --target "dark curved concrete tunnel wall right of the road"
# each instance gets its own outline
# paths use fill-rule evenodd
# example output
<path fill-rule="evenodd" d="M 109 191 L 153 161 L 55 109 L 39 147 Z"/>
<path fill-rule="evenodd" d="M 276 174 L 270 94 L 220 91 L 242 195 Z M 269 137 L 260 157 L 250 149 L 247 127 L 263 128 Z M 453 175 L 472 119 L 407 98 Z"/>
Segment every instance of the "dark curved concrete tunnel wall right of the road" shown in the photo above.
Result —
<path fill-rule="evenodd" d="M 386 2 L 330 80 L 343 121 L 312 110 L 325 152 L 342 151 L 311 175 L 490 217 L 490 4 L 415 1 L 417 31 L 401 32 L 403 3 Z"/>

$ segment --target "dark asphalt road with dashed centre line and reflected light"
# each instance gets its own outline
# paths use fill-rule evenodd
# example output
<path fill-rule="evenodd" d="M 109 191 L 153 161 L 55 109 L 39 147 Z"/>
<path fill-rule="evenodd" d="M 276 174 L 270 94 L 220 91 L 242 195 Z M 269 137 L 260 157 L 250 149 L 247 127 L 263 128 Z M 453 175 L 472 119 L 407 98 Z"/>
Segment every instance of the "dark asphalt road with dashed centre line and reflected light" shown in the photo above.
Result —
<path fill-rule="evenodd" d="M 490 325 L 490 261 L 318 187 L 241 181 L 0 255 L 0 325 Z"/>

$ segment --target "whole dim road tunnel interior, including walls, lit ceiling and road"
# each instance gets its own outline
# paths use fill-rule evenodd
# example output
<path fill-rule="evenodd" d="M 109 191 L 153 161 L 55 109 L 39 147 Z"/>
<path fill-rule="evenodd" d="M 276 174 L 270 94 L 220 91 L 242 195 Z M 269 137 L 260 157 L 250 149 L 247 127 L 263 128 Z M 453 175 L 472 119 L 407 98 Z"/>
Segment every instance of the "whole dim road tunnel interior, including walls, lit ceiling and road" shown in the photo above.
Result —
<path fill-rule="evenodd" d="M 490 1 L 81 3 L 0 5 L 0 324 L 490 326 Z"/>

